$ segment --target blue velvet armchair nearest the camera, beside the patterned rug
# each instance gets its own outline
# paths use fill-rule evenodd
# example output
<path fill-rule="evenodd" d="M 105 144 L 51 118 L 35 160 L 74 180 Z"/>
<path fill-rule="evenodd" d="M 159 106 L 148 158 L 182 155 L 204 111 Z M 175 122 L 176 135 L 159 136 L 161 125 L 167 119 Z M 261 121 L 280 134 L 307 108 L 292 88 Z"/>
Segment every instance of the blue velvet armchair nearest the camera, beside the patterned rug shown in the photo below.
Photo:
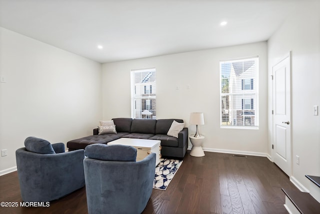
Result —
<path fill-rule="evenodd" d="M 85 155 L 88 213 L 141 213 L 152 192 L 155 153 L 135 161 L 131 146 L 92 144 Z"/>

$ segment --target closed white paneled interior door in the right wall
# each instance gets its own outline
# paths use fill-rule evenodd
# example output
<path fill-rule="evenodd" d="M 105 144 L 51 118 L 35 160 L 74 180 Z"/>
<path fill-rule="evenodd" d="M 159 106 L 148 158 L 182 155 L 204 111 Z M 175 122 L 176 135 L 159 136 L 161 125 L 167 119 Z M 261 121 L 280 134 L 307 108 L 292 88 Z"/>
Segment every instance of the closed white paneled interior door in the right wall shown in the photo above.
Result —
<path fill-rule="evenodd" d="M 291 175 L 291 72 L 290 56 L 272 67 L 274 163 Z"/>

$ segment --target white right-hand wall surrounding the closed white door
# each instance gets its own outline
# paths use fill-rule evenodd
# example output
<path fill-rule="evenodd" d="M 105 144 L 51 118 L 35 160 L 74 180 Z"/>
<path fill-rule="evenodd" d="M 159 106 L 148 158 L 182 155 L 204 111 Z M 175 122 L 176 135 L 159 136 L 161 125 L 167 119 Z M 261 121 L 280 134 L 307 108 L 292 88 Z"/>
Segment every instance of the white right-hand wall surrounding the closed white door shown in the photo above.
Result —
<path fill-rule="evenodd" d="M 313 116 L 313 105 L 320 105 L 320 2 L 297 7 L 268 41 L 268 73 L 289 51 L 292 53 L 292 176 L 309 188 L 305 174 L 320 176 L 320 116 Z M 268 107 L 272 108 L 272 85 L 268 84 Z M 271 154 L 272 116 L 268 117 L 268 153 Z M 300 164 L 295 163 L 298 155 Z"/>

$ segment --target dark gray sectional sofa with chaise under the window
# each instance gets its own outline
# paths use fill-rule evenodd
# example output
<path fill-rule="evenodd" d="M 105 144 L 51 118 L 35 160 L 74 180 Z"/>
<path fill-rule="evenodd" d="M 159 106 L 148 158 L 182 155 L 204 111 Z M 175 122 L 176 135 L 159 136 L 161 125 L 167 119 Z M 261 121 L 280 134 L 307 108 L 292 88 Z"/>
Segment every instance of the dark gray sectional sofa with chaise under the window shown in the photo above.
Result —
<path fill-rule="evenodd" d="M 181 119 L 132 119 L 113 118 L 116 133 L 98 134 L 98 129 L 93 129 L 93 135 L 82 137 L 67 142 L 69 151 L 85 149 L 94 143 L 107 144 L 121 137 L 151 139 L 161 141 L 161 155 L 169 157 L 184 157 L 188 146 L 188 129 L 183 128 L 178 137 L 168 136 L 167 132 L 173 120 L 183 123 Z"/>

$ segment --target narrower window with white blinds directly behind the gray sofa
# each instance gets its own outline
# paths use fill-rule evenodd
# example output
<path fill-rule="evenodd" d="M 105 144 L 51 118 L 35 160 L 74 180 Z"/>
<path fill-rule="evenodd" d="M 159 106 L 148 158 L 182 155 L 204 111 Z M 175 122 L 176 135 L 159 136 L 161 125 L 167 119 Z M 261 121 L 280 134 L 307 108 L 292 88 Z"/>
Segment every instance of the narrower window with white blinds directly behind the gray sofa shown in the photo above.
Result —
<path fill-rule="evenodd" d="M 131 70 L 131 117 L 156 119 L 155 68 Z"/>

